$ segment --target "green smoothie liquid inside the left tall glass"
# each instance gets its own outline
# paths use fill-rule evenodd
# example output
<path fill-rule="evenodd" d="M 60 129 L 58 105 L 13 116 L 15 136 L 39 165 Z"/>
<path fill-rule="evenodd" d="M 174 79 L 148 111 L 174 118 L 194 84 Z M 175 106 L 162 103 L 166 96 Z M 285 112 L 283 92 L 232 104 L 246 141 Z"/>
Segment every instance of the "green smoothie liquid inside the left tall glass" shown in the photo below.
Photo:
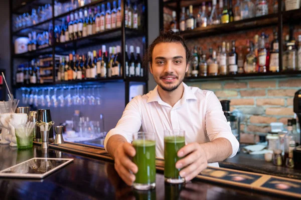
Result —
<path fill-rule="evenodd" d="M 132 145 L 136 150 L 133 162 L 138 167 L 135 183 L 156 182 L 156 141 L 138 139 Z"/>

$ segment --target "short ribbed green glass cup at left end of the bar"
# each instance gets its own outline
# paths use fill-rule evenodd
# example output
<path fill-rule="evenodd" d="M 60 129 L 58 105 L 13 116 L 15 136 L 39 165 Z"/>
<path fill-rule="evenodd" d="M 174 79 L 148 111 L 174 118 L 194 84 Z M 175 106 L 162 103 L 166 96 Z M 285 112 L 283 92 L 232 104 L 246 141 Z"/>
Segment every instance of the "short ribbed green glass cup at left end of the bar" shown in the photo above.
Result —
<path fill-rule="evenodd" d="M 33 147 L 35 128 L 15 128 L 17 146 L 19 149 L 27 149 Z"/>

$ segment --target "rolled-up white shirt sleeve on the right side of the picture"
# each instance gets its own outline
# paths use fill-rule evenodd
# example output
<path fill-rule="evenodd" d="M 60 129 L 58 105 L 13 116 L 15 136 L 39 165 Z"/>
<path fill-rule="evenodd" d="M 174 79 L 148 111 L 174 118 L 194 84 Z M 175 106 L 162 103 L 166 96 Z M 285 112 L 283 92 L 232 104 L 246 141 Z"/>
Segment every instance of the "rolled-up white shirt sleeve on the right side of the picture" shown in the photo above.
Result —
<path fill-rule="evenodd" d="M 205 123 L 210 141 L 220 137 L 228 139 L 232 145 L 232 154 L 229 157 L 236 155 L 239 148 L 239 142 L 232 134 L 231 127 L 227 123 L 227 119 L 224 115 L 222 105 L 213 92 L 210 92 L 207 95 Z"/>

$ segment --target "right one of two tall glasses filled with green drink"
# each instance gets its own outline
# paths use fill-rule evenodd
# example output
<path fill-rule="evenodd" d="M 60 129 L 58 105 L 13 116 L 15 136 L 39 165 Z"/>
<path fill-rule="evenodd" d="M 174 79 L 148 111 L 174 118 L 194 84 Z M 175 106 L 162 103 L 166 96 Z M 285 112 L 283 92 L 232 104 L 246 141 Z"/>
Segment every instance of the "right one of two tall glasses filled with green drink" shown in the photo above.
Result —
<path fill-rule="evenodd" d="M 179 174 L 181 169 L 176 168 L 180 160 L 178 150 L 185 146 L 184 130 L 164 130 L 164 177 L 169 183 L 182 183 L 185 179 Z"/>

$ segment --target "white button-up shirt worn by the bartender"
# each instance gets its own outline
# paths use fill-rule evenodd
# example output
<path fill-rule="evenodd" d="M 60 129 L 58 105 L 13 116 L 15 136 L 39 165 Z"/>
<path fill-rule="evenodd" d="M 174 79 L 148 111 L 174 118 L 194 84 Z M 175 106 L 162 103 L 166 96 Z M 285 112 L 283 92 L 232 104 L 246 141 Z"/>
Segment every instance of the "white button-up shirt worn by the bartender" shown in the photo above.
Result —
<path fill-rule="evenodd" d="M 114 134 L 123 135 L 128 142 L 132 141 L 132 133 L 141 131 L 155 132 L 156 156 L 164 157 L 164 130 L 185 130 L 185 143 L 205 143 L 223 137 L 231 142 L 236 155 L 239 142 L 232 134 L 230 125 L 222 110 L 222 106 L 213 91 L 201 90 L 187 86 L 185 83 L 182 98 L 174 106 L 164 102 L 158 85 L 147 94 L 135 96 L 125 107 L 122 117 L 115 128 L 111 129 L 104 140 Z M 210 166 L 219 166 L 217 162 Z"/>

